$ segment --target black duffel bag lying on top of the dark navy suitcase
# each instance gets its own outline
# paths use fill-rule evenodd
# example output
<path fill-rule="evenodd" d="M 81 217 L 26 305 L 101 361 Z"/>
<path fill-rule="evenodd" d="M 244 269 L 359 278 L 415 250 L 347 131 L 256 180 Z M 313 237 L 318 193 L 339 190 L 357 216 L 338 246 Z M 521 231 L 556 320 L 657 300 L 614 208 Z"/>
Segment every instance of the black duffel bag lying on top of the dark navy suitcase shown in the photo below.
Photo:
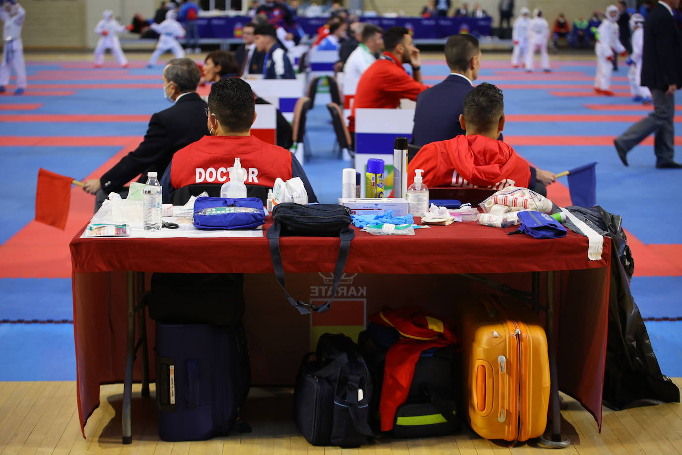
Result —
<path fill-rule="evenodd" d="M 149 317 L 163 323 L 235 324 L 244 314 L 242 274 L 172 274 L 151 276 L 145 296 Z"/>

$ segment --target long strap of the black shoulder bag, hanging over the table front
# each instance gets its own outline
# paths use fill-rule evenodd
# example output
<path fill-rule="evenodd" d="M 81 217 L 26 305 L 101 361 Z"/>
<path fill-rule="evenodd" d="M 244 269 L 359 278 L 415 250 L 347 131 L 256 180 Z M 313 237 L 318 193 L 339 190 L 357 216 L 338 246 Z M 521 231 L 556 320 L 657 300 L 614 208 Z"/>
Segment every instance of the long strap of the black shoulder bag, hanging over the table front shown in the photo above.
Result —
<path fill-rule="evenodd" d="M 331 308 L 331 301 L 336 296 L 336 290 L 341 282 L 341 277 L 343 276 L 344 268 L 346 267 L 346 261 L 348 260 L 348 254 L 351 250 L 351 240 L 355 237 L 355 232 L 350 227 L 344 228 L 339 233 L 340 246 L 339 254 L 336 259 L 336 267 L 334 267 L 334 280 L 331 286 L 331 294 L 329 295 L 329 300 L 325 304 L 320 306 L 315 306 L 308 302 L 302 302 L 301 300 L 295 300 L 284 287 L 284 266 L 282 265 L 282 252 L 280 251 L 280 232 L 281 226 L 279 222 L 275 222 L 270 229 L 267 230 L 267 238 L 270 244 L 270 255 L 272 256 L 272 266 L 275 269 L 275 277 L 277 282 L 282 287 L 284 295 L 286 295 L 286 300 L 299 310 L 301 314 L 308 314 L 311 311 L 316 313 L 323 313 L 329 308 Z"/>

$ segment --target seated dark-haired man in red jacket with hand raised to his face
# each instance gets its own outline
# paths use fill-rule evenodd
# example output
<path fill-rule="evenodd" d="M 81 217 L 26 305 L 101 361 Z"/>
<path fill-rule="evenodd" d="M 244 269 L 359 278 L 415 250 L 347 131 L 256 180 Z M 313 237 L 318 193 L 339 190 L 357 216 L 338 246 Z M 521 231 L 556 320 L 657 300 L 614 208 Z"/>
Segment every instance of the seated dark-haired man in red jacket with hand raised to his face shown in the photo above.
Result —
<path fill-rule="evenodd" d="M 412 44 L 412 35 L 405 27 L 391 27 L 383 35 L 385 52 L 364 72 L 355 91 L 353 111 L 349 117 L 349 130 L 355 132 L 356 108 L 395 109 L 401 98 L 417 100 L 428 86 L 421 83 L 421 56 Z M 412 74 L 402 68 L 412 65 Z"/>

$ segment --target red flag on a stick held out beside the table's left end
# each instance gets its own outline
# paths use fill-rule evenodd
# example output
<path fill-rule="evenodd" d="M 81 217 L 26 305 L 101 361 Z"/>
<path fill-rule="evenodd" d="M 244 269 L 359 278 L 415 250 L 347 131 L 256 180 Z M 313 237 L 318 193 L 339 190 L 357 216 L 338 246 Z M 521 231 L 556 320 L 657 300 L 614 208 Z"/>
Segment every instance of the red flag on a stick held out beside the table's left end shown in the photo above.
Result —
<path fill-rule="evenodd" d="M 38 188 L 35 190 L 35 220 L 61 230 L 66 229 L 74 179 L 38 169 Z"/>

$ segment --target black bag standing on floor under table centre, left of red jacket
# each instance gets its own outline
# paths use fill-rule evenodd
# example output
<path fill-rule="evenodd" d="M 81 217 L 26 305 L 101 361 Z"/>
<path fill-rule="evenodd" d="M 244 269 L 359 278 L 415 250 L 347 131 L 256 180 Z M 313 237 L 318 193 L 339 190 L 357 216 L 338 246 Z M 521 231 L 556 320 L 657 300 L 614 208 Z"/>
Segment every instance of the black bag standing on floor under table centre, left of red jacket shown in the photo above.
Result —
<path fill-rule="evenodd" d="M 294 389 L 294 418 L 303 437 L 312 445 L 367 444 L 374 436 L 371 400 L 372 379 L 357 344 L 343 334 L 323 334 L 316 352 L 303 357 Z"/>

